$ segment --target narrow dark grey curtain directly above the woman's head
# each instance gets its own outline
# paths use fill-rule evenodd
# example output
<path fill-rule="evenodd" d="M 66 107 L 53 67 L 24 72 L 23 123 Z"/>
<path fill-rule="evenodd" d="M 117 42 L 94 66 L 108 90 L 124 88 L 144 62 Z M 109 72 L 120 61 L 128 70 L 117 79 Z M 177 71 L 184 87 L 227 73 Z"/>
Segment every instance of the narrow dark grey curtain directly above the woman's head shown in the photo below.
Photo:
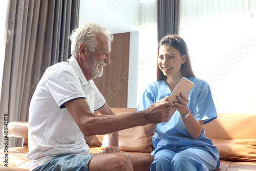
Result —
<path fill-rule="evenodd" d="M 157 0 L 158 41 L 166 34 L 178 34 L 180 26 L 180 0 Z"/>

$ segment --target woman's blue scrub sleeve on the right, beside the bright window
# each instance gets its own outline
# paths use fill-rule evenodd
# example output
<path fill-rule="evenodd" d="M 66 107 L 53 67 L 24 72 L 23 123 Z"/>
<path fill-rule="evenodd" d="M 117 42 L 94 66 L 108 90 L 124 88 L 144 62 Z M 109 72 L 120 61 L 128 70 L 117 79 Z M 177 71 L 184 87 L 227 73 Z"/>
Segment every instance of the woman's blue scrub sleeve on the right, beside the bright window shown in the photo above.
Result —
<path fill-rule="evenodd" d="M 204 120 L 204 124 L 217 118 L 217 111 L 212 99 L 210 87 L 206 81 L 198 84 L 191 92 L 189 109 L 196 120 Z"/>

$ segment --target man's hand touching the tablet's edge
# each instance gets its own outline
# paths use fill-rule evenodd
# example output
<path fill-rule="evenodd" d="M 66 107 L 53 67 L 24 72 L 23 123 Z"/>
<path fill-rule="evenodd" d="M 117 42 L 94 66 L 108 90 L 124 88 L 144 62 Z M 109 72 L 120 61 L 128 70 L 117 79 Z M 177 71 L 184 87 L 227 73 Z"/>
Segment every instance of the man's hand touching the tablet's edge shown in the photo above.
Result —
<path fill-rule="evenodd" d="M 149 108 L 144 110 L 144 115 L 148 123 L 160 123 L 167 121 L 172 103 L 168 101 L 168 96 L 153 103 Z"/>

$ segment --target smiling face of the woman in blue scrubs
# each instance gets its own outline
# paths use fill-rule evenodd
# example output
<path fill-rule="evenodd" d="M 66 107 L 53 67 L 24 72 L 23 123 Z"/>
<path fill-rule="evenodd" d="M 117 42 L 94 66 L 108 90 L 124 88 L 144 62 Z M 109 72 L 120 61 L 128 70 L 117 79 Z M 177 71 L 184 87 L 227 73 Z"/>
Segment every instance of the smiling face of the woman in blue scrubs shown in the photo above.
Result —
<path fill-rule="evenodd" d="M 181 65 L 186 61 L 185 55 L 173 46 L 160 46 L 158 52 L 158 66 L 164 76 L 174 76 L 181 74 Z"/>

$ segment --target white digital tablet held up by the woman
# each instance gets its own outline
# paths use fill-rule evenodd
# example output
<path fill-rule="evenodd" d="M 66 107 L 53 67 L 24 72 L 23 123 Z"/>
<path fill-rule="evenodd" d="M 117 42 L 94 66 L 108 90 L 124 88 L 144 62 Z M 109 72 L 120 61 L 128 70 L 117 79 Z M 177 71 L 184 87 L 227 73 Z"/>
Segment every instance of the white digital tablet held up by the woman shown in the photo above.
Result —
<path fill-rule="evenodd" d="M 190 92 L 190 90 L 194 87 L 194 83 L 191 82 L 190 80 L 188 80 L 185 77 L 182 77 L 180 82 L 178 83 L 178 85 L 176 86 L 176 88 L 174 89 L 174 91 L 172 92 L 172 94 L 170 94 L 168 101 L 174 103 L 179 102 L 177 100 L 177 97 L 180 96 L 181 93 L 183 93 L 185 96 L 187 96 Z M 170 110 L 169 112 L 169 117 L 168 120 L 166 122 L 168 122 L 170 120 L 170 118 L 173 116 L 173 114 L 175 113 L 175 109 L 172 108 L 172 110 Z"/>

